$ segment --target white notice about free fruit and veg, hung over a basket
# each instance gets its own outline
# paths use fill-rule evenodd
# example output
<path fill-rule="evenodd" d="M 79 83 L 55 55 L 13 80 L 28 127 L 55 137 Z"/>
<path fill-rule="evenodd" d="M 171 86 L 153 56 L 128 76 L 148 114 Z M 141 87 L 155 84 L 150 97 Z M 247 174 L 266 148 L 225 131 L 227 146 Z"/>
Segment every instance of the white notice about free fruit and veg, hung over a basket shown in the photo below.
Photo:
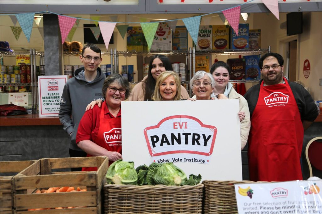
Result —
<path fill-rule="evenodd" d="M 322 180 L 235 184 L 239 214 L 322 213 Z"/>

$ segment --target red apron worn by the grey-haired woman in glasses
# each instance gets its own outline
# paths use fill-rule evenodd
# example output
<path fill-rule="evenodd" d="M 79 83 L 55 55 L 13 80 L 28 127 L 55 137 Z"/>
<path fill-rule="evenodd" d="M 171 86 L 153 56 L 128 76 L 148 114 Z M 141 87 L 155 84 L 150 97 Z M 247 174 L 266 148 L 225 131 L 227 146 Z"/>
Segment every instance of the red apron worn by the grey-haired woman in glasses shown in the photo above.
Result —
<path fill-rule="evenodd" d="M 93 139 L 97 145 L 109 150 L 117 151 L 122 154 L 122 129 L 121 129 L 121 117 L 114 117 L 111 119 L 105 119 L 106 102 L 102 102 L 101 113 L 99 119 L 99 131 L 96 139 Z M 107 107 L 106 107 L 107 108 Z M 92 155 L 87 154 L 87 157 Z M 109 161 L 109 165 L 113 161 Z M 83 167 L 82 171 L 96 171 L 97 167 Z"/>

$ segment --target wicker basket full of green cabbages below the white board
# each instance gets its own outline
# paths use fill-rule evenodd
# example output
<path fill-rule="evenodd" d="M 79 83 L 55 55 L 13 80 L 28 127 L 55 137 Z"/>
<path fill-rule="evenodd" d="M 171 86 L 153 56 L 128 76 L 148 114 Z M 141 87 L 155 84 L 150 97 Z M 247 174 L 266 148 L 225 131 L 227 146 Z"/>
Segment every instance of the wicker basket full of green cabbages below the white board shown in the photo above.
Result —
<path fill-rule="evenodd" d="M 201 213 L 203 184 L 104 185 L 105 213 Z"/>

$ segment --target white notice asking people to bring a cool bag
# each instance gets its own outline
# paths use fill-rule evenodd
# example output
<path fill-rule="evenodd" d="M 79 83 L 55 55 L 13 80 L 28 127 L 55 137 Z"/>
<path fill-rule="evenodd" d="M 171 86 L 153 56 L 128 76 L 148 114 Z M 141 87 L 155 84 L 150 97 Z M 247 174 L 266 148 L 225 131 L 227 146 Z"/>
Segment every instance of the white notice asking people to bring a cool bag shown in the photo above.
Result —
<path fill-rule="evenodd" d="M 67 75 L 38 76 L 39 116 L 58 116 Z"/>

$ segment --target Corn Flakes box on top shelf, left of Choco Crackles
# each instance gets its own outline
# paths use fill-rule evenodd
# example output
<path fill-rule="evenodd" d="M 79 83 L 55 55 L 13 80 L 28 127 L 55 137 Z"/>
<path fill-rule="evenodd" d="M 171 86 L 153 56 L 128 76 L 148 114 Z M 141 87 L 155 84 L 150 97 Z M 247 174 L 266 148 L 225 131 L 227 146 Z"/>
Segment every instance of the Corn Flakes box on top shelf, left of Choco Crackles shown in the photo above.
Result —
<path fill-rule="evenodd" d="M 198 33 L 198 42 L 196 50 L 211 50 L 213 48 L 212 25 L 201 25 Z"/>

